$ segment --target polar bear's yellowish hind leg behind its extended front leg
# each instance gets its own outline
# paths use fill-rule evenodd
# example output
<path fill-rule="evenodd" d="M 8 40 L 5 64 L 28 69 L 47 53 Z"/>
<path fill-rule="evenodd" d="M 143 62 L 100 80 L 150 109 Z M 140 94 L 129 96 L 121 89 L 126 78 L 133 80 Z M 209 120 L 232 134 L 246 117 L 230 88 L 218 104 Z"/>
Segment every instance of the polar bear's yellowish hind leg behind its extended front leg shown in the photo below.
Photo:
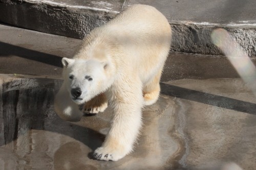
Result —
<path fill-rule="evenodd" d="M 153 105 L 159 98 L 160 94 L 160 78 L 162 69 L 159 70 L 158 74 L 143 87 L 144 106 Z"/>

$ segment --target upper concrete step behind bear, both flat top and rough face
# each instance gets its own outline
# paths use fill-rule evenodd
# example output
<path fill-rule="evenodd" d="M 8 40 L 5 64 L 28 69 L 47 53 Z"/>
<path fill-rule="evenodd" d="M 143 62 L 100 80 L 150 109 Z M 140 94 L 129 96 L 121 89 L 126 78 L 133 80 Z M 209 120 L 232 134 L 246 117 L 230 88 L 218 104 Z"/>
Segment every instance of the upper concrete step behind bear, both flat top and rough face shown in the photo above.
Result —
<path fill-rule="evenodd" d="M 171 50 L 222 55 L 211 42 L 216 28 L 228 30 L 255 58 L 256 3 L 247 0 L 195 1 L 81 1 L 81 0 L 0 0 L 0 21 L 40 32 L 82 39 L 93 28 L 108 22 L 132 4 L 156 7 L 173 27 Z"/>

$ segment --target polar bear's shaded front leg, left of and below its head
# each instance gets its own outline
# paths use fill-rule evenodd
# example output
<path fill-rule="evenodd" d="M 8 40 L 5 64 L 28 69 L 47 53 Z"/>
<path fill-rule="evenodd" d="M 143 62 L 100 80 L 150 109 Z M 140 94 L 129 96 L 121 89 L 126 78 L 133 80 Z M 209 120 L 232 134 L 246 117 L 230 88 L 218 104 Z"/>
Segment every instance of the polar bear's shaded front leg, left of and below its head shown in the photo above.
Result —
<path fill-rule="evenodd" d="M 55 95 L 54 110 L 60 118 L 72 122 L 79 121 L 83 115 L 79 106 L 71 100 L 65 82 Z"/>

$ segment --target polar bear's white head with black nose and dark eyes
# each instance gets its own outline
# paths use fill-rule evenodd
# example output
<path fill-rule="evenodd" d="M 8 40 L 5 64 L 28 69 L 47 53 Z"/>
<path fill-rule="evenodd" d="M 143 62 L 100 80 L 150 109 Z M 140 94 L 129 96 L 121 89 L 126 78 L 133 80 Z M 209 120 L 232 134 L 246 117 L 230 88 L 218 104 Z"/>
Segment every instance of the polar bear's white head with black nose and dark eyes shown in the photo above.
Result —
<path fill-rule="evenodd" d="M 64 83 L 76 104 L 90 101 L 112 84 L 109 62 L 68 58 L 62 58 L 61 61 Z"/>

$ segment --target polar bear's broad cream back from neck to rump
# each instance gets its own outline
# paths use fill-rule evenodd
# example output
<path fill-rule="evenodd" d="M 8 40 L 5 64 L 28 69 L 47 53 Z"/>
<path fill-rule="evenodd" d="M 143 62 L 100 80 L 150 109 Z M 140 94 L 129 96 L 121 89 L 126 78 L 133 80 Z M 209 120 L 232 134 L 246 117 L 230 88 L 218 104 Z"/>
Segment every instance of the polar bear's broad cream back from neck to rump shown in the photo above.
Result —
<path fill-rule="evenodd" d="M 139 72 L 144 78 L 163 66 L 171 36 L 167 19 L 156 8 L 133 5 L 95 28 L 84 38 L 83 48 L 75 57 L 101 60 L 108 56 L 121 72 Z"/>

